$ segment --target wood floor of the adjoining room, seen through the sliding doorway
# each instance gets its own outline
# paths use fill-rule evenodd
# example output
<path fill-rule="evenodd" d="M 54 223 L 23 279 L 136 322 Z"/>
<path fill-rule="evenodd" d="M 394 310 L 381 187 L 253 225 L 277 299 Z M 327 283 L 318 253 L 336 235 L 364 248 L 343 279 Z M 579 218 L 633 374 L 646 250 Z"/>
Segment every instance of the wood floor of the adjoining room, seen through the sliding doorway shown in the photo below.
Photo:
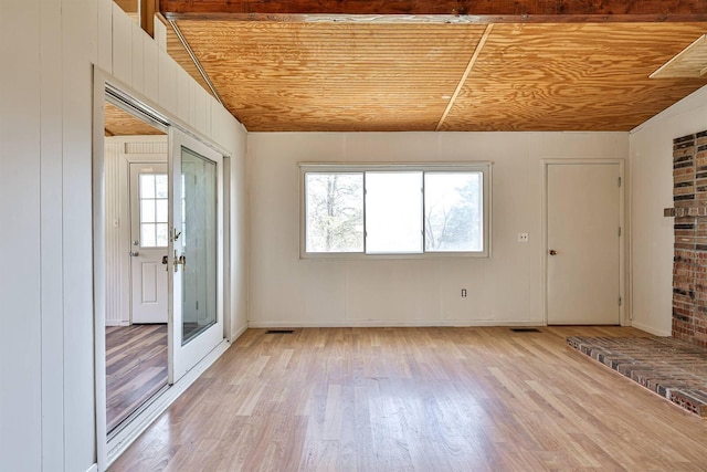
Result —
<path fill-rule="evenodd" d="M 167 325 L 106 327 L 108 433 L 167 385 Z"/>

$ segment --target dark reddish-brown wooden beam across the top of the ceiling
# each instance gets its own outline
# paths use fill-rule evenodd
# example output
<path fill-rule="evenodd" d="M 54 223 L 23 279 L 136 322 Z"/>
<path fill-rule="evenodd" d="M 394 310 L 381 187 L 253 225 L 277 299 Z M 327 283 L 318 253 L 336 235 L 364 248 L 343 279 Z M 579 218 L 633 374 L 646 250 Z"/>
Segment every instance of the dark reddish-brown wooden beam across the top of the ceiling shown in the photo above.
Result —
<path fill-rule="evenodd" d="M 707 0 L 159 0 L 159 8 L 170 20 L 476 23 L 707 20 Z"/>

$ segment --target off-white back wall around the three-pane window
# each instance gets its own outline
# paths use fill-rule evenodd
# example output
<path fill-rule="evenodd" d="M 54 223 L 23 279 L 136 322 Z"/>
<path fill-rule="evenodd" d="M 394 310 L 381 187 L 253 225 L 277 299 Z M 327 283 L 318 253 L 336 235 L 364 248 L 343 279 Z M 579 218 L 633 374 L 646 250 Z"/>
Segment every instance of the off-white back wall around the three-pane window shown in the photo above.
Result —
<path fill-rule="evenodd" d="M 542 159 L 629 154 L 626 133 L 254 133 L 247 143 L 253 327 L 542 324 Z M 494 162 L 492 259 L 299 260 L 298 162 L 458 160 Z"/>

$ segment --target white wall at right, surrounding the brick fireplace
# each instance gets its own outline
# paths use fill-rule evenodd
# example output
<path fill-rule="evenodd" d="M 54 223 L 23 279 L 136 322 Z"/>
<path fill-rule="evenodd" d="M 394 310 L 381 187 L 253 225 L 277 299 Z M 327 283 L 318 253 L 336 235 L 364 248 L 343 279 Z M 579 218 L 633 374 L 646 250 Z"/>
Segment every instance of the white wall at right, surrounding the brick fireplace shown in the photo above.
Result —
<path fill-rule="evenodd" d="M 673 316 L 673 139 L 707 129 L 707 87 L 631 133 L 633 326 L 671 335 Z"/>

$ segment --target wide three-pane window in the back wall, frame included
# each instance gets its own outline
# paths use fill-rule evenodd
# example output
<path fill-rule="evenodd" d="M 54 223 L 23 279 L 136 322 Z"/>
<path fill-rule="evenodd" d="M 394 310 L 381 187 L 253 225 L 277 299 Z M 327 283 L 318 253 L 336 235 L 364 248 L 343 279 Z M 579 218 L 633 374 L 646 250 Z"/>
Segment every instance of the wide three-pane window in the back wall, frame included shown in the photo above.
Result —
<path fill-rule="evenodd" d="M 488 256 L 490 164 L 300 165 L 302 255 Z"/>

